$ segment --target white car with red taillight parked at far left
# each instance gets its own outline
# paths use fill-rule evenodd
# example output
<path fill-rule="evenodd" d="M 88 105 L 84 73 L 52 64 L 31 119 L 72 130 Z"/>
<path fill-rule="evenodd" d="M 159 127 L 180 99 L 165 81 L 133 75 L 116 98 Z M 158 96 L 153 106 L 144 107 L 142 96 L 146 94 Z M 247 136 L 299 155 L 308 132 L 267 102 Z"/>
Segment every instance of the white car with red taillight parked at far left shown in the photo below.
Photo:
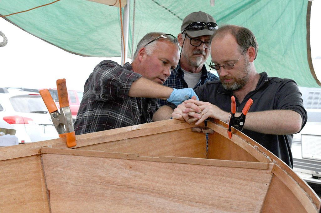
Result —
<path fill-rule="evenodd" d="M 0 88 L 0 119 L 17 130 L 19 143 L 59 138 L 38 92 Z"/>

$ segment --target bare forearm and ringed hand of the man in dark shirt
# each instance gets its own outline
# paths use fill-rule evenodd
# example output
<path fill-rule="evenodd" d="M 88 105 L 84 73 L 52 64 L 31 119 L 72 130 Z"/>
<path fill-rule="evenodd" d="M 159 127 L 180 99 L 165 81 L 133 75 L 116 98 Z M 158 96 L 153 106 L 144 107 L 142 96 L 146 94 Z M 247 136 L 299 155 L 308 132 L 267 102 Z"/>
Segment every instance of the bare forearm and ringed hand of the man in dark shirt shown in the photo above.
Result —
<path fill-rule="evenodd" d="M 187 122 L 196 122 L 196 125 L 209 117 L 228 122 L 230 114 L 213 104 L 198 100 L 187 100 L 179 107 L 182 109 L 181 112 L 175 109 L 172 117 L 177 119 L 183 117 Z M 189 119 L 188 115 L 194 118 Z M 235 114 L 236 117 L 240 115 L 241 113 Z M 294 134 L 300 131 L 301 126 L 300 114 L 292 110 L 250 112 L 247 113 L 244 123 L 244 129 L 273 135 Z"/>

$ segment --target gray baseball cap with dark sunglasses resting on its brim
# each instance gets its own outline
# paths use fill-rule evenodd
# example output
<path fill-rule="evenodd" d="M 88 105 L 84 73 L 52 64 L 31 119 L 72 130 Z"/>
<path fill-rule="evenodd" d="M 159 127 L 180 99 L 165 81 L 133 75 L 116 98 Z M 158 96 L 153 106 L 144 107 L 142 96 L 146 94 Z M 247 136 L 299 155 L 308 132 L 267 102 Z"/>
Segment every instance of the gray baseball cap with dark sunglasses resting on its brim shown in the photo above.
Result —
<path fill-rule="evenodd" d="M 181 32 L 191 23 L 193 22 L 205 22 L 205 23 L 209 23 L 209 22 L 214 22 L 216 23 L 216 20 L 209 14 L 207 14 L 206 12 L 192 12 L 190 14 L 188 14 L 185 19 L 183 20 L 182 26 L 181 26 Z M 214 30 L 210 30 L 208 28 L 208 26 L 204 26 L 204 29 L 202 30 L 191 30 L 191 29 L 187 29 L 184 32 L 186 32 L 188 35 L 192 36 L 192 37 L 198 37 L 198 36 L 202 36 L 202 35 L 213 35 Z"/>

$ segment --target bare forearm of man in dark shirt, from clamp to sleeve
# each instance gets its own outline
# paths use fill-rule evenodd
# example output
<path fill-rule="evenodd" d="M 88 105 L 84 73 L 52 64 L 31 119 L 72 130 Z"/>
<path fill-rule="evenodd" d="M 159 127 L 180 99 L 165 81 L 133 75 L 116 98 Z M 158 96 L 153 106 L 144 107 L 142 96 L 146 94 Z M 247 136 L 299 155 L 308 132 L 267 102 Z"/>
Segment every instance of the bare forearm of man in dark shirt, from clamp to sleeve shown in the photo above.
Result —
<path fill-rule="evenodd" d="M 235 116 L 239 116 L 237 113 Z M 300 131 L 302 118 L 292 110 L 270 110 L 247 113 L 244 129 L 265 134 L 286 135 Z"/>

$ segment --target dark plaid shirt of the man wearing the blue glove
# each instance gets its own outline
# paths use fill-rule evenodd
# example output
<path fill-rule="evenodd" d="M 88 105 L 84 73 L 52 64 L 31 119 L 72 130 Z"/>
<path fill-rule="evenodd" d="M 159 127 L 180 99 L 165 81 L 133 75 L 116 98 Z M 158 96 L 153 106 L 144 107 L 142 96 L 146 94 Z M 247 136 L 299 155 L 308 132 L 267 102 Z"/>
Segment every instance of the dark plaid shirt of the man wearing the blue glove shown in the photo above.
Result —
<path fill-rule="evenodd" d="M 132 83 L 140 77 L 128 62 L 124 67 L 111 60 L 100 62 L 84 86 L 74 124 L 76 135 L 152 122 L 159 108 L 156 99 L 128 96 Z"/>

